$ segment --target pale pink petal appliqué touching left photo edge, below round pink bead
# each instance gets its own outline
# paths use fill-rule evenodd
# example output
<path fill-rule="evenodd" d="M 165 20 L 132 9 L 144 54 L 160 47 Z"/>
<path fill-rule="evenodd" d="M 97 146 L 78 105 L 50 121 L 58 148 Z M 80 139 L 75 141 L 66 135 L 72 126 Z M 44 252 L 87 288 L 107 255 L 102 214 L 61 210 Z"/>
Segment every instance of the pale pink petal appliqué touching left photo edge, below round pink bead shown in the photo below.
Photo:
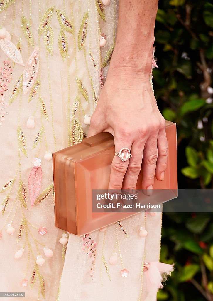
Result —
<path fill-rule="evenodd" d="M 0 39 L 0 47 L 14 63 L 24 66 L 24 62 L 19 50 L 11 41 Z"/>

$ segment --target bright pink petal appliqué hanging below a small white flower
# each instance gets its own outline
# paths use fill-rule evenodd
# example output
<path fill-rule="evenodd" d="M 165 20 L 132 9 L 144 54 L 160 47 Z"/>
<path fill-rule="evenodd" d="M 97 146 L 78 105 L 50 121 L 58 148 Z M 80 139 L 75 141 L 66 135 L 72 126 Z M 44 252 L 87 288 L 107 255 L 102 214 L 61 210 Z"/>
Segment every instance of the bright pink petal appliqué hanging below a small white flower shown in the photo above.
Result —
<path fill-rule="evenodd" d="M 41 166 L 33 166 L 28 179 L 29 197 L 31 208 L 35 203 L 35 199 L 38 196 L 41 188 L 42 169 Z"/>

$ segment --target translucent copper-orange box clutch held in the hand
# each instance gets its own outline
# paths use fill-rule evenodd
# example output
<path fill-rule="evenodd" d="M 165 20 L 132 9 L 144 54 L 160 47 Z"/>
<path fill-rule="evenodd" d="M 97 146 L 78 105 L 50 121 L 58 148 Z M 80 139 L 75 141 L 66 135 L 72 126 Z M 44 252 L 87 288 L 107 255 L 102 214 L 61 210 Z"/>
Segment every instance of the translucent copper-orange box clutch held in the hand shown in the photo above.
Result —
<path fill-rule="evenodd" d="M 166 121 L 166 137 L 169 154 L 164 181 L 155 178 L 153 189 L 177 190 L 175 123 Z M 93 212 L 92 191 L 108 188 L 114 154 L 114 137 L 106 132 L 53 153 L 56 227 L 81 236 L 136 214 L 136 212 Z M 141 189 L 141 181 L 142 171 L 138 176 L 136 189 Z"/>

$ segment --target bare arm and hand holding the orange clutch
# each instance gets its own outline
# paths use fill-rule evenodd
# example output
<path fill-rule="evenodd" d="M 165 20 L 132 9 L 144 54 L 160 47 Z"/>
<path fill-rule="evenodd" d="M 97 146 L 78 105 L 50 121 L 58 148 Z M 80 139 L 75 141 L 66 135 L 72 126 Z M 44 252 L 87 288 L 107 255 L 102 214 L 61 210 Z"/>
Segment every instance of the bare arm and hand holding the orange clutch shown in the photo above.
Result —
<path fill-rule="evenodd" d="M 108 189 L 135 189 L 142 163 L 145 194 L 152 194 L 154 176 L 164 179 L 165 119 L 149 81 L 157 4 L 157 0 L 119 1 L 116 44 L 88 133 L 90 137 L 110 132 L 115 152 L 123 147 L 131 150 L 132 158 L 126 162 L 114 156 Z"/>

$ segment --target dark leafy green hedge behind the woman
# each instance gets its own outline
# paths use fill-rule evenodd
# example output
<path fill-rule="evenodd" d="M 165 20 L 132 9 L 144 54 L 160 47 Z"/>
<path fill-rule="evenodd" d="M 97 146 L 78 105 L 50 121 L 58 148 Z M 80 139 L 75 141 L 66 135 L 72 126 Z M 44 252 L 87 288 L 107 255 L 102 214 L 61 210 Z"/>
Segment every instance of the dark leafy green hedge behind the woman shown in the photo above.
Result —
<path fill-rule="evenodd" d="M 177 124 L 178 188 L 213 188 L 213 4 L 159 1 L 154 91 Z M 213 300 L 212 213 L 164 213 L 161 262 L 175 272 L 158 300 Z"/>

